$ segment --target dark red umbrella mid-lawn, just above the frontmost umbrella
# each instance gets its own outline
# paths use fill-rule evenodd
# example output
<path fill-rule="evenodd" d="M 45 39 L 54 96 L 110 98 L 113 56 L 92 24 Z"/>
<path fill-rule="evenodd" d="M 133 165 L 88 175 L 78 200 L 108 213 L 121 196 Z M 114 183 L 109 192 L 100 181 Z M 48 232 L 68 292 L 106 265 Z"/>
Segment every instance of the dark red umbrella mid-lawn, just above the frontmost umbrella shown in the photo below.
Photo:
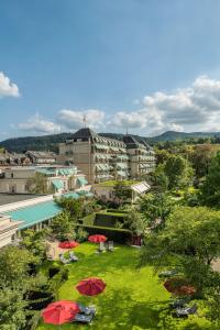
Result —
<path fill-rule="evenodd" d="M 80 280 L 76 288 L 81 295 L 97 296 L 105 290 L 106 286 L 106 283 L 101 278 L 90 277 Z"/>

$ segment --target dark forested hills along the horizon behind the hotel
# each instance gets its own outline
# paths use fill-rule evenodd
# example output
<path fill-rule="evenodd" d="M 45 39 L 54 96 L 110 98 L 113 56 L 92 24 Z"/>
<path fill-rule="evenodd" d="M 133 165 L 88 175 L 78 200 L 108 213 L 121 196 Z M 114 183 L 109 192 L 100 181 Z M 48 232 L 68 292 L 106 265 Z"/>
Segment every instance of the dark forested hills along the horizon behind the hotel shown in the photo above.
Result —
<path fill-rule="evenodd" d="M 123 134 L 117 133 L 100 133 L 100 135 L 117 140 L 122 140 Z M 175 132 L 175 131 L 167 131 L 161 135 L 146 138 L 146 136 L 139 136 L 133 135 L 138 141 L 144 140 L 150 144 L 154 144 L 160 141 L 182 141 L 182 140 L 189 140 L 189 139 L 199 139 L 199 138 L 213 138 L 220 136 L 218 132 L 193 132 L 193 133 L 185 133 L 185 132 Z M 53 135 L 43 135 L 43 136 L 25 136 L 25 138 L 15 138 L 15 139 L 8 139 L 0 142 L 0 147 L 4 147 L 9 152 L 24 152 L 26 150 L 50 150 L 57 152 L 58 151 L 58 143 L 65 142 L 68 139 L 72 139 L 72 133 L 62 133 L 62 134 L 53 134 Z"/>

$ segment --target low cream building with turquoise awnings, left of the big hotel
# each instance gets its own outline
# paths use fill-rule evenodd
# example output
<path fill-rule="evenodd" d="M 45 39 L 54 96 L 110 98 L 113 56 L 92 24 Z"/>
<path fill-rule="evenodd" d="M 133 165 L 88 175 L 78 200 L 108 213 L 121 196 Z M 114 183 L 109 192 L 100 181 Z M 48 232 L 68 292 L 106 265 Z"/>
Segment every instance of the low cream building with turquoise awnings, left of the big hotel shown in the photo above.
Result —
<path fill-rule="evenodd" d="M 54 193 L 85 188 L 88 182 L 76 166 L 12 166 L 1 169 L 0 193 L 28 194 L 30 179 L 41 173 Z"/>

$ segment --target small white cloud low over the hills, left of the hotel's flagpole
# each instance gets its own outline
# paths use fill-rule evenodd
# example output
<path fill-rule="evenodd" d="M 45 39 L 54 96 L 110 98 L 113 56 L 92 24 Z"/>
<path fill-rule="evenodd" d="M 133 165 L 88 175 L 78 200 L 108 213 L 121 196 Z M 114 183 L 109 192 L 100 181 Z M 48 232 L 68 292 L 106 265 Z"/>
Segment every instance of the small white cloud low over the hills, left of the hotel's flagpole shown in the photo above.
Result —
<path fill-rule="evenodd" d="M 31 117 L 26 122 L 19 123 L 18 129 L 29 134 L 55 134 L 61 132 L 61 125 L 45 120 L 38 113 Z"/>

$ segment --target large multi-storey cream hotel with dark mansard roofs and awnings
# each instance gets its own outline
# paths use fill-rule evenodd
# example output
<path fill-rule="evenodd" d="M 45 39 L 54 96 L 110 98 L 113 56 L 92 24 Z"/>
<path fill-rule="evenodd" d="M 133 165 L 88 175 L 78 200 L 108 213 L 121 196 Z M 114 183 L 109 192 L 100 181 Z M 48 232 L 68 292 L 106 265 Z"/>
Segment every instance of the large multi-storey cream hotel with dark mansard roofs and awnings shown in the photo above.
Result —
<path fill-rule="evenodd" d="M 103 138 L 85 128 L 59 144 L 59 162 L 75 164 L 90 184 L 109 179 L 140 178 L 155 167 L 155 154 L 133 136 L 123 141 Z"/>

